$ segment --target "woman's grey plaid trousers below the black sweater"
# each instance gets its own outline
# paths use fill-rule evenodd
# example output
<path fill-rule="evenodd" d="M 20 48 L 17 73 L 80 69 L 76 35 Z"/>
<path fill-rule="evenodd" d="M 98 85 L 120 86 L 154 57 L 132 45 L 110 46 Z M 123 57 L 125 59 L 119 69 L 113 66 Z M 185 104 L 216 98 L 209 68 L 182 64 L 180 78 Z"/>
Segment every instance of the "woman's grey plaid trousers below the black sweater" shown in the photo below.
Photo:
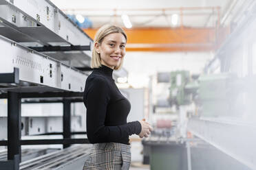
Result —
<path fill-rule="evenodd" d="M 95 143 L 83 170 L 127 170 L 131 164 L 131 147 L 122 143 Z"/>

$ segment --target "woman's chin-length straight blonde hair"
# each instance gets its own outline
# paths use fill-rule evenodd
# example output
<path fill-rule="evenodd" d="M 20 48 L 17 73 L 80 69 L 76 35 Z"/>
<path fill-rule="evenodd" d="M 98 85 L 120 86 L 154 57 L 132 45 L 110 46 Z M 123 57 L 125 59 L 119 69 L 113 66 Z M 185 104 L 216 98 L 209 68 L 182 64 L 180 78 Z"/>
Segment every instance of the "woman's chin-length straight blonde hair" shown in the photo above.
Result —
<path fill-rule="evenodd" d="M 125 40 L 127 40 L 127 36 L 125 34 L 125 31 L 116 25 L 103 25 L 98 29 L 98 32 L 96 32 L 95 38 L 94 38 L 94 48 L 92 49 L 92 60 L 91 60 L 91 68 L 98 68 L 101 66 L 101 59 L 100 59 L 100 53 L 96 52 L 95 49 L 95 43 L 101 43 L 103 42 L 103 39 L 105 36 L 112 34 L 112 33 L 121 33 L 123 36 L 125 36 Z M 123 58 L 121 58 L 119 66 L 115 66 L 114 69 L 118 70 L 122 67 Z"/>

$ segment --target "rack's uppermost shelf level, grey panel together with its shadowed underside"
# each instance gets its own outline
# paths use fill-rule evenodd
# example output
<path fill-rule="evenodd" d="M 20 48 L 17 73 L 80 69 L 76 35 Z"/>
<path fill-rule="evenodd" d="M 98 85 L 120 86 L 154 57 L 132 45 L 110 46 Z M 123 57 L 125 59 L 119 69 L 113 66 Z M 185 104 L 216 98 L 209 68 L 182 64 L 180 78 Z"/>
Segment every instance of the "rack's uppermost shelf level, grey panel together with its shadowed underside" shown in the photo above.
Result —
<path fill-rule="evenodd" d="M 87 46 L 87 50 L 42 53 L 70 66 L 89 66 L 93 40 L 48 0 L 0 0 L 0 34 L 30 47 Z"/>

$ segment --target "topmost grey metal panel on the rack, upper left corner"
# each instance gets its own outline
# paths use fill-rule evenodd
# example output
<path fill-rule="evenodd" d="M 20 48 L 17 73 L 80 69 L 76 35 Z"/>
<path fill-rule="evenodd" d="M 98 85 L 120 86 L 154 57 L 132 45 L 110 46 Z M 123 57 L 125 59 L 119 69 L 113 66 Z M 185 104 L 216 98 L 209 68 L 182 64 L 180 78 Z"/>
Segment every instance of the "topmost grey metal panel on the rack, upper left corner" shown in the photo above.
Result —
<path fill-rule="evenodd" d="M 2 11 L 0 12 L 1 19 L 7 24 L 16 25 L 17 27 L 45 27 L 45 29 L 54 32 L 58 36 L 56 42 L 61 38 L 71 45 L 89 45 L 89 43 L 92 43 L 92 39 L 50 1 L 19 0 L 12 4 L 1 0 L 0 3 L 8 4 L 0 7 Z M 15 18 L 15 22 L 13 18 Z"/>

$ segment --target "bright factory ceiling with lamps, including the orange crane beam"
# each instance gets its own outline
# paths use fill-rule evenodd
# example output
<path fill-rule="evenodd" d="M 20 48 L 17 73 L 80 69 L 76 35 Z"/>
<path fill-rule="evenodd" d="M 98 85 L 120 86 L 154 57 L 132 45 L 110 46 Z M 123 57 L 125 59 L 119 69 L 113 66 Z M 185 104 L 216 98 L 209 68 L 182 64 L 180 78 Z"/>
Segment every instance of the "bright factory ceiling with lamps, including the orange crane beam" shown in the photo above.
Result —
<path fill-rule="evenodd" d="M 106 23 L 124 27 L 127 51 L 214 51 L 248 1 L 52 0 L 66 14 L 90 21 L 84 31 L 92 38 Z"/>

